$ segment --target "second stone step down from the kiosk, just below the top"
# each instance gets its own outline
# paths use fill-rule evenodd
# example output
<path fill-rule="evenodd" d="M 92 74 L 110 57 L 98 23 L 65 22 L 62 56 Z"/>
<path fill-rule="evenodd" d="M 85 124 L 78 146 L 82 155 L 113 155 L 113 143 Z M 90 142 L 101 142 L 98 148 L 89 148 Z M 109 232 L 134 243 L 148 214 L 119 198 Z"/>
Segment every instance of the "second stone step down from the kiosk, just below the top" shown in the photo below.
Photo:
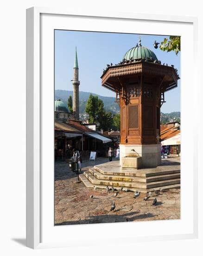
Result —
<path fill-rule="evenodd" d="M 94 168 L 89 168 L 89 172 L 99 180 L 127 181 L 127 182 L 156 182 L 180 178 L 180 173 L 156 175 L 151 177 L 127 176 L 127 175 L 103 175 Z"/>

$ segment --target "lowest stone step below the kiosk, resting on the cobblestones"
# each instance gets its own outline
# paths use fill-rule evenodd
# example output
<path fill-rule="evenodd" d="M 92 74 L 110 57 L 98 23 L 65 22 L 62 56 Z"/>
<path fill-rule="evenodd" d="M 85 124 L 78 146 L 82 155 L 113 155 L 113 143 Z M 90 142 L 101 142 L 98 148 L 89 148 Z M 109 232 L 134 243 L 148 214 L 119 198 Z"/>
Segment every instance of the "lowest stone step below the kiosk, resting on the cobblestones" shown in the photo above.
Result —
<path fill-rule="evenodd" d="M 87 187 L 87 188 L 90 188 L 90 189 L 96 189 L 96 190 L 104 190 L 106 189 L 106 185 L 94 185 L 92 184 L 84 174 L 81 174 L 79 175 L 79 179 L 80 181 L 82 181 L 82 183 Z M 115 186 L 114 186 L 115 187 Z M 116 186 L 115 187 L 117 190 L 121 190 L 121 187 L 119 186 Z M 160 186 L 160 187 L 157 187 L 157 188 L 153 188 L 153 189 L 142 189 L 142 188 L 132 188 L 132 187 L 123 187 L 123 191 L 125 191 L 126 189 L 131 189 L 132 191 L 140 191 L 142 193 L 146 193 L 146 192 L 149 192 L 149 191 L 153 191 L 153 190 L 159 190 L 159 189 L 179 189 L 180 188 L 180 184 L 173 184 L 173 185 L 168 185 L 168 186 Z"/>

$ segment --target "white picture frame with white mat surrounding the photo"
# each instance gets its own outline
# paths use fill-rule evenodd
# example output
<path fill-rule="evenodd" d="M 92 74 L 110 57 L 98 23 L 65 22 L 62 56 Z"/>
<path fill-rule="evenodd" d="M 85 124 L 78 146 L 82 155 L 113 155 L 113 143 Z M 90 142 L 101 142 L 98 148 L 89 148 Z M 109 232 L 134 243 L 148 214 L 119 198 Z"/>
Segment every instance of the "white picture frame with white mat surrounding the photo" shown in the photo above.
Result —
<path fill-rule="evenodd" d="M 73 21 L 70 22 L 70 21 Z M 94 22 L 92 22 L 94 20 Z M 81 22 L 82 21 L 82 22 Z M 134 23 L 139 23 L 139 29 L 133 30 Z M 102 24 L 101 24 L 102 23 Z M 163 30 L 163 24 L 167 27 Z M 118 24 L 120 24 L 118 26 Z M 149 29 L 147 25 L 153 24 Z M 127 25 L 127 26 L 126 26 Z M 47 27 L 46 27 L 47 26 Z M 93 26 L 92 31 L 119 32 L 138 34 L 169 34 L 170 27 L 178 29 L 182 36 L 181 48 L 181 84 L 184 88 L 181 90 L 181 125 L 182 125 L 182 152 L 181 152 L 181 220 L 156 221 L 156 230 L 154 222 L 131 222 L 131 223 L 109 223 L 109 224 L 88 224 L 57 226 L 53 225 L 53 161 L 47 161 L 53 154 L 44 151 L 44 143 L 51 149 L 53 138 L 53 50 L 54 29 L 72 29 L 89 30 L 88 26 Z M 114 26 L 114 28 L 112 27 Z M 179 27 L 178 27 L 179 26 Z M 144 29 L 143 29 L 144 27 Z M 151 33 L 150 33 L 151 31 Z M 162 33 L 161 33 L 162 31 Z M 192 67 L 185 65 L 186 57 L 184 55 L 188 42 L 184 40 L 185 33 L 190 35 L 190 58 L 194 61 Z M 174 33 L 175 34 L 175 33 Z M 44 44 L 50 42 L 44 52 Z M 194 146 L 198 140 L 197 130 L 191 127 L 186 128 L 187 115 L 191 116 L 190 121 L 197 121 L 197 102 L 195 94 L 197 90 L 197 71 L 194 67 L 197 65 L 197 47 L 194 42 L 197 41 L 197 19 L 193 17 L 181 16 L 162 16 L 162 15 L 143 15 L 138 13 L 69 13 L 66 10 L 51 9 L 44 7 L 32 7 L 26 12 L 26 245 L 32 249 L 50 248 L 50 247 L 69 247 L 76 245 L 96 245 L 99 237 L 103 238 L 104 243 L 127 243 L 136 239 L 140 241 L 154 240 L 172 240 L 184 238 L 197 238 L 197 155 L 194 152 Z M 45 65 L 45 62 L 46 65 Z M 191 71 L 188 76 L 189 69 Z M 189 92 L 189 85 L 193 84 L 193 92 Z M 48 92 L 45 93 L 45 85 L 49 85 Z M 46 88 L 47 89 L 47 88 Z M 186 99 L 190 96 L 190 108 L 187 106 Z M 51 108 L 52 106 L 52 108 Z M 186 110 L 185 110 L 186 109 Z M 46 115 L 44 115 L 46 112 Z M 44 122 L 46 119 L 46 122 Z M 46 131 L 46 133 L 44 133 Z M 190 132 L 190 152 L 187 152 L 186 137 Z M 185 146 L 185 148 L 184 148 Z M 51 159 L 51 158 L 50 158 Z M 46 166 L 46 168 L 44 168 Z M 49 171 L 49 172 L 48 172 Z M 190 171 L 190 173 L 189 173 Z M 184 198 L 187 194 L 187 185 L 190 183 L 190 209 L 185 205 Z M 192 188 L 192 189 L 191 189 Z M 44 217 L 46 216 L 46 218 Z M 122 225 L 122 226 L 121 226 Z M 111 238 L 108 234 L 104 235 L 105 229 L 114 229 L 118 233 L 120 228 L 124 232 L 119 236 Z M 136 228 L 136 234 L 132 232 Z M 78 234 L 95 234 L 100 229 L 100 234 L 87 240 L 84 236 L 79 237 L 79 241 L 71 236 Z M 68 233 L 67 233 L 68 230 Z M 146 232 L 142 231 L 146 230 Z M 151 231 L 153 230 L 153 232 Z M 160 233 L 160 230 L 161 233 Z M 147 235 L 146 235 L 147 233 Z"/>

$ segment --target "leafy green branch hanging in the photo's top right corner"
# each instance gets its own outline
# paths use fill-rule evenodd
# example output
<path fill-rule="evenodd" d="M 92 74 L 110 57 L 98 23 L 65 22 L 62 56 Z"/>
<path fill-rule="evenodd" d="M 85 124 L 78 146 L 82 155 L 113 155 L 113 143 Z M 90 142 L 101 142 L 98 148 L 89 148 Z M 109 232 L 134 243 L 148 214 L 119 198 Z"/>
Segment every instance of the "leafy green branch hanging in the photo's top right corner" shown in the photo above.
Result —
<path fill-rule="evenodd" d="M 164 41 L 160 43 L 159 48 L 167 52 L 175 51 L 177 55 L 180 51 L 180 36 L 170 36 L 169 40 L 165 38 Z"/>

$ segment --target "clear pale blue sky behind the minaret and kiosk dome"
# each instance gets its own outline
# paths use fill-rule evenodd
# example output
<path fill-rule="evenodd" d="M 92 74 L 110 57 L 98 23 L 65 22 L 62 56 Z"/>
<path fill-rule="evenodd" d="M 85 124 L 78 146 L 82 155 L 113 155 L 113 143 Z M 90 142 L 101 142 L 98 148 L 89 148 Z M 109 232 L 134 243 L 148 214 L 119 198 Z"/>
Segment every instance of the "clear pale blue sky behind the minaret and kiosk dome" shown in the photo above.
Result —
<path fill-rule="evenodd" d="M 167 35 L 140 35 L 105 32 L 86 32 L 55 30 L 55 90 L 73 89 L 73 67 L 75 49 L 79 66 L 79 90 L 115 97 L 115 93 L 101 86 L 101 74 L 107 64 L 117 64 L 124 54 L 136 46 L 141 36 L 142 46 L 150 48 L 161 63 L 173 64 L 180 74 L 180 52 L 167 53 L 153 47 L 153 42 L 163 41 Z M 165 101 L 161 112 L 170 113 L 180 111 L 180 80 L 178 88 L 165 93 Z"/>

